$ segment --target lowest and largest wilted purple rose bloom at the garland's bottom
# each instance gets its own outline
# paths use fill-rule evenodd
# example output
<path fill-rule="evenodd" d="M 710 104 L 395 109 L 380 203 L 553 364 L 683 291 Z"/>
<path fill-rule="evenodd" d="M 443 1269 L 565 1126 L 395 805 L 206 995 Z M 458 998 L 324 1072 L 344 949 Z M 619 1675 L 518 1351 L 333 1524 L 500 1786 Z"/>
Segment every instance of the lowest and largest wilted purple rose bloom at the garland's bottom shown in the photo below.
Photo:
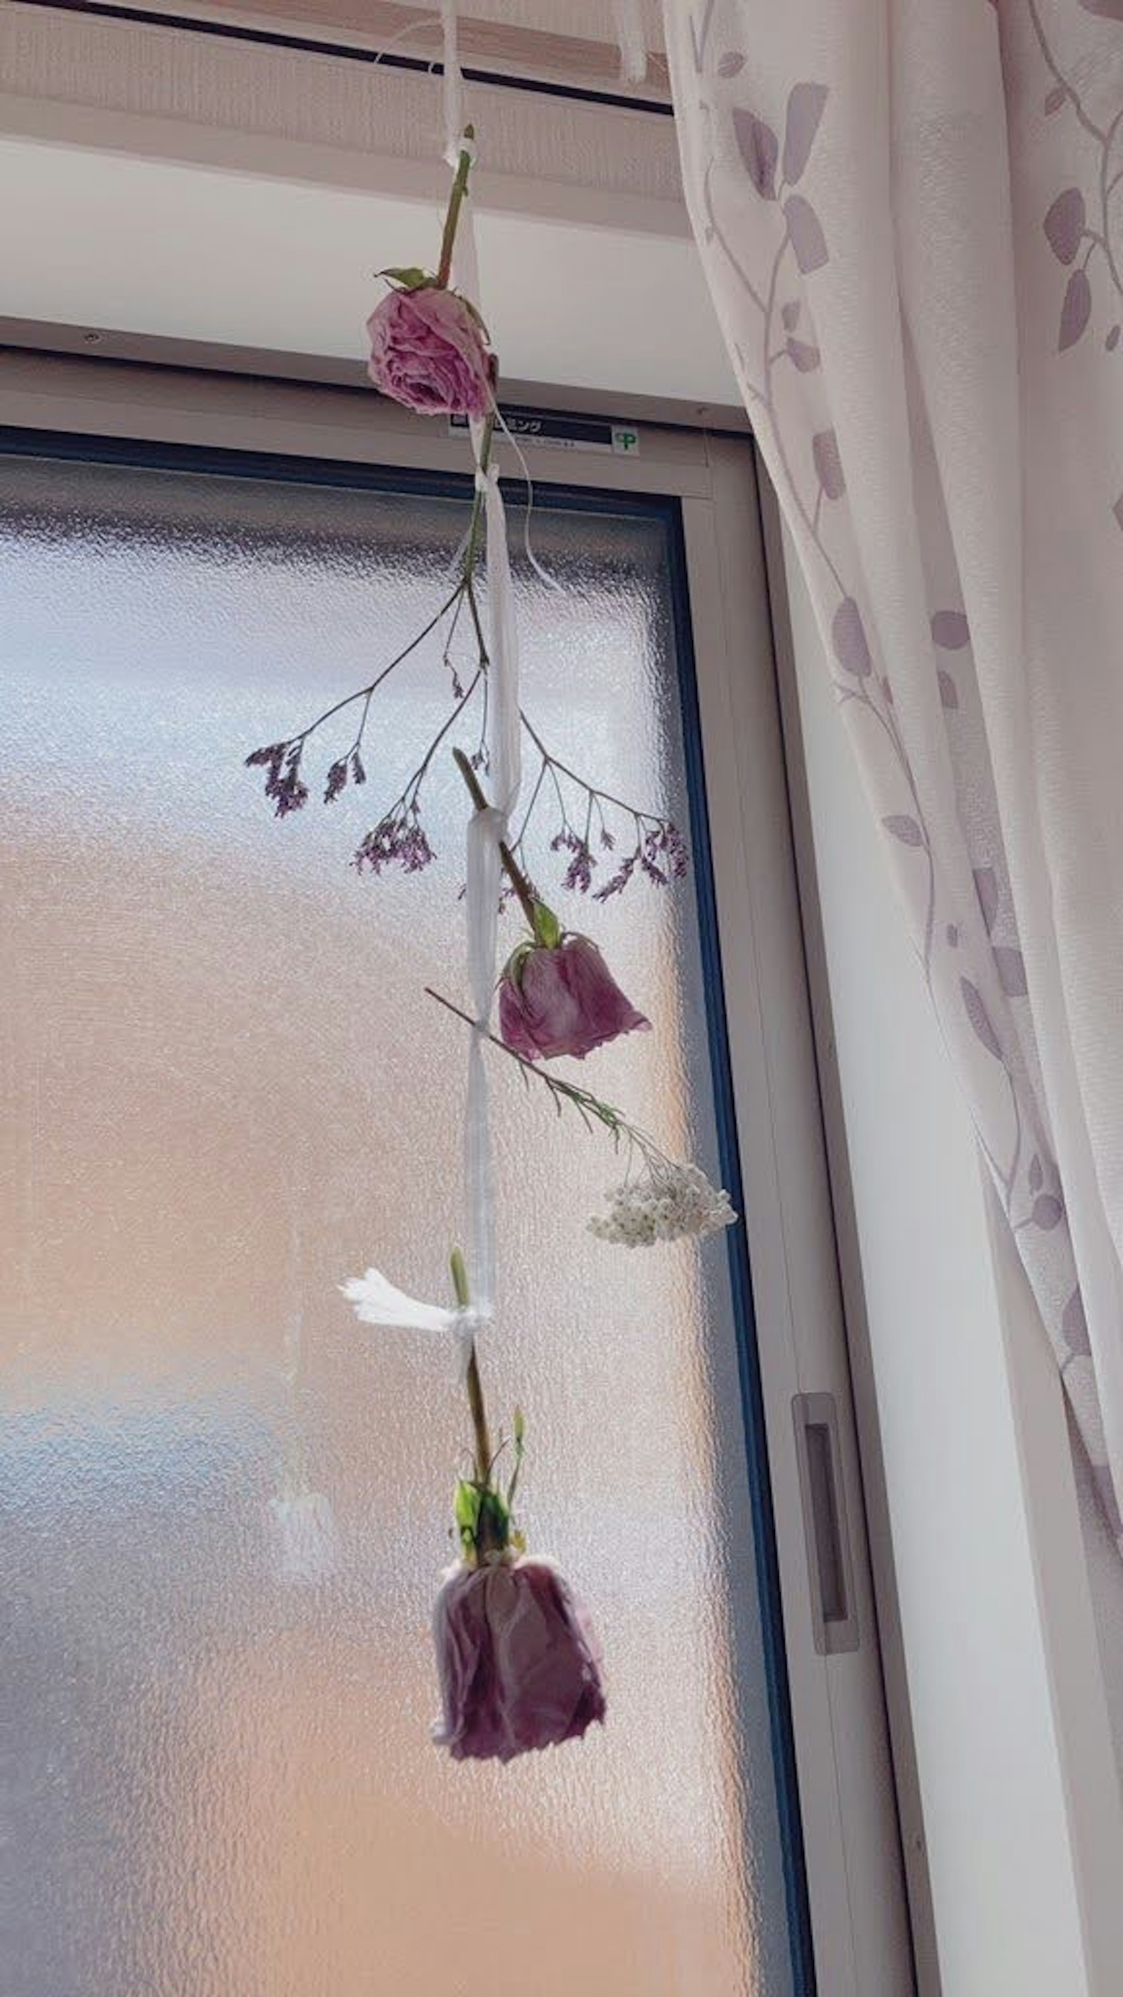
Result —
<path fill-rule="evenodd" d="M 444 1705 L 434 1741 L 456 1761 L 558 1747 L 605 1715 L 589 1620 L 550 1560 L 454 1568 L 434 1642 Z"/>

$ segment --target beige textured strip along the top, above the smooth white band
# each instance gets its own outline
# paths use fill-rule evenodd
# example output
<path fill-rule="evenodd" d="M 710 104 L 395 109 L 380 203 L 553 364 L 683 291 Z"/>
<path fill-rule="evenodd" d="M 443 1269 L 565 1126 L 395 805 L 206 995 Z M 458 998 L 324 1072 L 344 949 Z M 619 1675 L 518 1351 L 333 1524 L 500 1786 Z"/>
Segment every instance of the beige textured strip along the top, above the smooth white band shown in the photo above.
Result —
<path fill-rule="evenodd" d="M 224 172 L 444 204 L 436 84 L 300 48 L 0 8 L 0 132 Z M 472 86 L 490 134 L 480 210 L 689 238 L 669 118 Z M 627 134 L 607 172 L 603 136 Z"/>

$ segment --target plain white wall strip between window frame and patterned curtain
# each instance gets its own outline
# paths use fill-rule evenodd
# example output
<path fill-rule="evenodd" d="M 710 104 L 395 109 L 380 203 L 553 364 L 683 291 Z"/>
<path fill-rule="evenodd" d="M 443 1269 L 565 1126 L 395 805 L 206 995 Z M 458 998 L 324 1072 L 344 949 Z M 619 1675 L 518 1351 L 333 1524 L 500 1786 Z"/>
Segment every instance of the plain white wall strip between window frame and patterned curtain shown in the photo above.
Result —
<path fill-rule="evenodd" d="M 995 1272 L 971 1124 L 791 549 L 787 571 L 943 1991 L 1113 1997 L 1119 1893 L 1109 1869 L 1089 1891 L 1085 1845 L 1095 1803 L 1099 1849 L 1117 1847 L 1119 1797 L 1055 1370 L 1015 1272 Z"/>

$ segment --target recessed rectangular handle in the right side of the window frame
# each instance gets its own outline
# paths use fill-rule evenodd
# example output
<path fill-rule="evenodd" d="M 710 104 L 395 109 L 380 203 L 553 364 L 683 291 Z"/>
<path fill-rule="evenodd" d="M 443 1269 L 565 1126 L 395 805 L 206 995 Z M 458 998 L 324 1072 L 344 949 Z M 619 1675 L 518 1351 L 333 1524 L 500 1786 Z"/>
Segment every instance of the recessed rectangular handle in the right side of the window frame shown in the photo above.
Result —
<path fill-rule="evenodd" d="M 859 1646 L 835 1398 L 795 1394 L 791 1414 L 815 1650 L 821 1658 L 835 1658 Z"/>

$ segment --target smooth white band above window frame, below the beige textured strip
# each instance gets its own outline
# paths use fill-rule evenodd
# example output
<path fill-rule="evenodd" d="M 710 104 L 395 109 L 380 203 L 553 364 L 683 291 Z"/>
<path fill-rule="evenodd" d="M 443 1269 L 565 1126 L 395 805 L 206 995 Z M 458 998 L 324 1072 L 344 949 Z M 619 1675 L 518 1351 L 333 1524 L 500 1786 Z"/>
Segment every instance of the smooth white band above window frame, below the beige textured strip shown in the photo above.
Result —
<path fill-rule="evenodd" d="M 4 312 L 358 357 L 374 272 L 416 264 L 436 204 L 80 146 L 0 140 Z M 735 403 L 693 244 L 480 214 L 508 375 Z"/>

